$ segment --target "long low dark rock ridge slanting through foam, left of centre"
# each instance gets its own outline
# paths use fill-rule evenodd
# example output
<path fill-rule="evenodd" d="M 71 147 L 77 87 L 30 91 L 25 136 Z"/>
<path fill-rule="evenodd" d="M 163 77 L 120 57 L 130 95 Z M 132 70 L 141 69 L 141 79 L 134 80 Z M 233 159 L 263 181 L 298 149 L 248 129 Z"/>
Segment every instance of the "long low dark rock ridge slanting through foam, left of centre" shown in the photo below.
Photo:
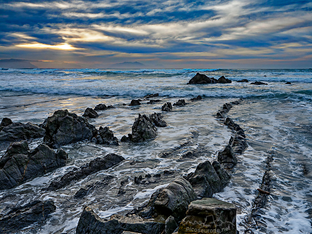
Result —
<path fill-rule="evenodd" d="M 70 172 L 66 173 L 59 181 L 52 182 L 46 190 L 55 191 L 57 189 L 64 188 L 72 181 L 78 181 L 98 171 L 111 168 L 123 160 L 124 158 L 117 154 L 107 154 L 105 157 L 95 158 L 91 160 L 90 163 L 86 163 L 80 168 L 74 168 Z"/>

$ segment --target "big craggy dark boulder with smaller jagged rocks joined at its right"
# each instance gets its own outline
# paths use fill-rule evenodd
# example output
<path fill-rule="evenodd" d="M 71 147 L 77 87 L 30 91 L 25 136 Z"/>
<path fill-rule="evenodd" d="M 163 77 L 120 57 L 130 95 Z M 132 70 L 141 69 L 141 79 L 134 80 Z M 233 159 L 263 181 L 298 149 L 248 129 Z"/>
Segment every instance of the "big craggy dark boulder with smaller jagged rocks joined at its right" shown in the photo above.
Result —
<path fill-rule="evenodd" d="M 41 126 L 46 129 L 43 141 L 54 149 L 85 139 L 98 144 L 118 144 L 117 138 L 108 127 L 97 130 L 85 118 L 68 110 L 55 111 Z"/>

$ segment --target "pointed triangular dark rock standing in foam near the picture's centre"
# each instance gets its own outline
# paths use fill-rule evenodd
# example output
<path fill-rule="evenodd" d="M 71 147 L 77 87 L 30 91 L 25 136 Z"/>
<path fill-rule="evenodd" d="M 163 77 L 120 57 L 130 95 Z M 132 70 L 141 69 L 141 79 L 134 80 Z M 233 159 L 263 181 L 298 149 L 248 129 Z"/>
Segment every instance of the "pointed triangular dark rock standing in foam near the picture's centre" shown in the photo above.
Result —
<path fill-rule="evenodd" d="M 132 133 L 128 134 L 128 137 L 123 136 L 122 142 L 132 141 L 141 142 L 144 140 L 153 139 L 157 136 L 157 128 L 153 122 L 146 115 L 139 114 L 139 117 L 135 119 L 132 125 Z"/>

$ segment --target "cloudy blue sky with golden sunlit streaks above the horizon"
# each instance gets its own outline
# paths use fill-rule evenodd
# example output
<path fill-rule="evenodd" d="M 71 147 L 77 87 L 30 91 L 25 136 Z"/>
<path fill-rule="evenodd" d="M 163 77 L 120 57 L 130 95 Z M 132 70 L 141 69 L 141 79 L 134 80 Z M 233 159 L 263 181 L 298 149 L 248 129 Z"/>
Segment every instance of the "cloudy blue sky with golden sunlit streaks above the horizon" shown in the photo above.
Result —
<path fill-rule="evenodd" d="M 312 2 L 0 0 L 0 59 L 312 68 Z"/>

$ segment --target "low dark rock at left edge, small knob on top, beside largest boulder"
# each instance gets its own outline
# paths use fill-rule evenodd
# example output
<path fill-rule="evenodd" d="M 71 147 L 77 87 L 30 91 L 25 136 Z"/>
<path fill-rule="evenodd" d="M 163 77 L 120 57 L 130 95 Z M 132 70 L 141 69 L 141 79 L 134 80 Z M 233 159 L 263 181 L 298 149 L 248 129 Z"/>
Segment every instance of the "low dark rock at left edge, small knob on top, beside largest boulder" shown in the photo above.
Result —
<path fill-rule="evenodd" d="M 37 124 L 9 123 L 9 118 L 2 119 L 2 125 L 0 127 L 0 142 L 36 139 L 43 137 L 45 134 L 45 130 L 40 128 Z"/>

